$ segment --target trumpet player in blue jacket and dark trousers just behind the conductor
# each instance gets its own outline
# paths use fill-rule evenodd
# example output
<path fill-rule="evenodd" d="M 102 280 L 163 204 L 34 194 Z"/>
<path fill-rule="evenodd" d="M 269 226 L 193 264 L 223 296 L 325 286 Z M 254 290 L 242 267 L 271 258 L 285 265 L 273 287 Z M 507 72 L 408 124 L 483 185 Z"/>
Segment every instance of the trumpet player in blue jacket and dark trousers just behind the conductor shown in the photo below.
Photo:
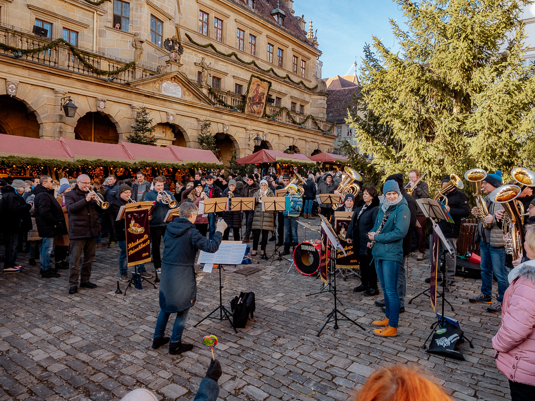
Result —
<path fill-rule="evenodd" d="M 164 190 L 164 184 L 165 181 L 163 178 L 155 177 L 155 179 L 152 180 L 152 191 L 147 192 L 144 198 L 147 202 L 156 202 L 154 208 L 152 209 L 152 219 L 150 220 L 149 224 L 151 242 L 150 250 L 152 252 L 152 262 L 154 263 L 154 268 L 156 270 L 162 267 L 160 244 L 162 243 L 162 237 L 164 236 L 165 228 L 167 227 L 165 216 L 171 209 L 169 204 L 162 202 L 164 197 L 159 192 L 165 192 L 167 196 L 171 197 L 172 201 L 175 201 L 173 194 Z"/>

